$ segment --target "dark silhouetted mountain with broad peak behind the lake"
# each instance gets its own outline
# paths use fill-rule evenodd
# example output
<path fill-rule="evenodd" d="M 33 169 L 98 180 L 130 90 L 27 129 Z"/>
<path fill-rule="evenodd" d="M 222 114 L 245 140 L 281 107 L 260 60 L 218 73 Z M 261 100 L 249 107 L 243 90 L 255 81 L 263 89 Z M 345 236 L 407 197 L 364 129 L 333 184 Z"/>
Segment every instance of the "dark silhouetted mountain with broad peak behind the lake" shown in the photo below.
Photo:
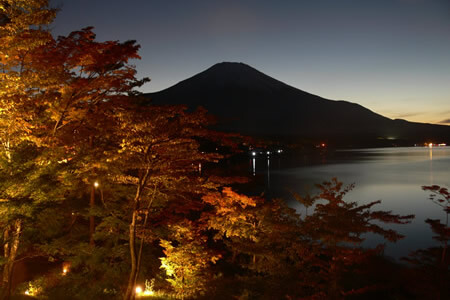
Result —
<path fill-rule="evenodd" d="M 218 63 L 146 96 L 155 104 L 203 106 L 217 116 L 219 129 L 253 136 L 450 141 L 450 126 L 392 120 L 356 103 L 304 92 L 243 63 Z"/>

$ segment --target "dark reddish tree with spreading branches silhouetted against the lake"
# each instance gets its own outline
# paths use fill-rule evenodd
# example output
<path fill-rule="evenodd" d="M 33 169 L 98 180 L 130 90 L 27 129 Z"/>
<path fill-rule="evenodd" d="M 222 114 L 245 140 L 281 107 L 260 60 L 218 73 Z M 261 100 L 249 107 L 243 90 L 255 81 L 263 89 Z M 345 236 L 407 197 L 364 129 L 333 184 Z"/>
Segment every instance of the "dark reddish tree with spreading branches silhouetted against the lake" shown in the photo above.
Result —
<path fill-rule="evenodd" d="M 388 211 L 371 211 L 381 201 L 358 205 L 357 202 L 345 202 L 344 196 L 353 189 L 353 185 L 344 187 L 336 178 L 318 184 L 320 190 L 314 214 L 304 221 L 304 233 L 311 237 L 313 243 L 319 243 L 314 262 L 319 268 L 321 277 L 315 283 L 320 293 L 330 298 L 342 298 L 349 291 L 340 285 L 344 272 L 350 267 L 362 263 L 373 254 L 380 253 L 381 246 L 375 249 L 360 247 L 365 233 L 378 234 L 388 241 L 395 242 L 403 236 L 394 230 L 384 229 L 374 223 L 409 223 L 413 215 L 399 216 Z M 361 293 L 367 287 L 358 287 L 351 294 Z"/>

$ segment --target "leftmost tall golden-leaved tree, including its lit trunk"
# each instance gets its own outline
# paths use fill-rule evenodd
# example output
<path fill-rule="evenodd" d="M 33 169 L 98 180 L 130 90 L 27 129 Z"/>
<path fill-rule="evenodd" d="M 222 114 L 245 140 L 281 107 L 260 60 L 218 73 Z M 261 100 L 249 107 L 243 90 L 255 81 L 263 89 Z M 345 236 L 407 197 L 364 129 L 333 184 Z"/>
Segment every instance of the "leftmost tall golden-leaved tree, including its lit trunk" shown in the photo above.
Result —
<path fill-rule="evenodd" d="M 46 26 L 55 13 L 45 0 L 0 2 L 0 172 L 5 179 L 2 183 L 9 183 L 2 189 L 0 208 L 5 258 L 3 298 L 9 298 L 11 293 L 12 272 L 19 255 L 24 221 L 32 219 L 38 208 L 32 202 L 43 201 L 44 189 L 30 188 L 36 188 L 40 178 L 48 175 L 45 170 L 39 171 L 43 169 L 38 167 L 36 151 L 39 149 L 30 135 L 36 127 L 34 120 L 39 117 L 34 100 L 46 83 L 36 77 L 30 62 L 34 51 L 51 41 Z M 54 166 L 44 169 L 51 167 Z"/>

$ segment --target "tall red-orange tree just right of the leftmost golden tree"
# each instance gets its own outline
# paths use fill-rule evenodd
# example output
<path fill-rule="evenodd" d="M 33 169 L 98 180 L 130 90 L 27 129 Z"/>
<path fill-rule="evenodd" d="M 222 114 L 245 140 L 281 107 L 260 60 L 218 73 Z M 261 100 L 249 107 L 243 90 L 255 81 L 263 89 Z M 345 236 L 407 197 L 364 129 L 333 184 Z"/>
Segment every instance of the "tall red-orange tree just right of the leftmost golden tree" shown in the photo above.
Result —
<path fill-rule="evenodd" d="M 52 122 L 47 126 L 51 134 L 44 141 L 49 147 L 64 149 L 65 164 L 74 170 L 72 180 L 90 187 L 91 247 L 95 239 L 94 216 L 105 218 L 108 222 L 112 217 L 108 215 L 109 212 L 105 214 L 93 207 L 94 182 L 101 184 L 100 200 L 104 206 L 105 201 L 111 202 L 111 198 L 105 199 L 104 196 L 114 194 L 114 190 L 123 190 L 123 185 L 137 184 L 137 199 L 140 199 L 142 189 L 147 187 L 145 176 L 139 177 L 140 170 L 137 175 L 133 173 L 136 161 L 130 159 L 132 153 L 127 152 L 125 147 L 130 146 L 128 137 L 146 130 L 144 128 L 139 132 L 137 128 L 145 125 L 138 120 L 144 122 L 148 118 L 145 124 L 150 124 L 150 130 L 156 125 L 149 123 L 152 116 L 158 116 L 163 110 L 150 114 L 148 109 L 138 107 L 135 103 L 136 93 L 133 89 L 147 81 L 136 80 L 136 71 L 128 63 L 130 59 L 139 58 L 138 48 L 134 41 L 96 42 L 92 28 L 85 28 L 72 32 L 68 37 L 59 37 L 41 49 L 40 59 L 35 61 L 36 64 L 47 65 L 47 69 L 54 71 L 52 74 L 59 74 L 49 79 L 58 89 L 46 91 L 47 97 L 52 99 L 46 102 Z M 162 120 L 174 115 L 163 113 L 158 117 Z M 135 140 L 132 142 L 135 142 L 140 137 L 134 135 L 133 138 Z M 138 159 L 137 156 L 132 158 Z M 128 174 L 130 170 L 131 174 Z M 142 181 L 130 182 L 128 179 L 133 178 L 133 175 Z M 107 188 L 112 190 L 108 191 Z M 118 201 L 120 197 L 117 199 L 115 196 L 113 199 Z M 123 222 L 123 219 L 119 221 Z M 98 226 L 105 229 L 102 221 Z"/>

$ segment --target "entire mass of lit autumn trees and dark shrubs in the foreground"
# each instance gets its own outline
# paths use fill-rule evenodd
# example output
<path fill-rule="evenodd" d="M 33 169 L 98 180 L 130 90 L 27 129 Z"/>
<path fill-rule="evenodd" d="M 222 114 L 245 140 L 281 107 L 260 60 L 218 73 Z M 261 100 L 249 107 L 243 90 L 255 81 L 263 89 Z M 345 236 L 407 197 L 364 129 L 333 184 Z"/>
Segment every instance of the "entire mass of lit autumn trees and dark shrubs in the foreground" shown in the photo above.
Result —
<path fill-rule="evenodd" d="M 360 247 L 412 216 L 345 202 L 336 179 L 296 198 L 248 197 L 205 166 L 242 139 L 204 111 L 142 104 L 133 41 L 53 38 L 46 0 L 0 1 L 2 299 L 446 299 L 440 246 L 408 265 Z M 203 170 L 202 170 L 203 169 Z M 448 217 L 449 193 L 425 187 Z"/>

